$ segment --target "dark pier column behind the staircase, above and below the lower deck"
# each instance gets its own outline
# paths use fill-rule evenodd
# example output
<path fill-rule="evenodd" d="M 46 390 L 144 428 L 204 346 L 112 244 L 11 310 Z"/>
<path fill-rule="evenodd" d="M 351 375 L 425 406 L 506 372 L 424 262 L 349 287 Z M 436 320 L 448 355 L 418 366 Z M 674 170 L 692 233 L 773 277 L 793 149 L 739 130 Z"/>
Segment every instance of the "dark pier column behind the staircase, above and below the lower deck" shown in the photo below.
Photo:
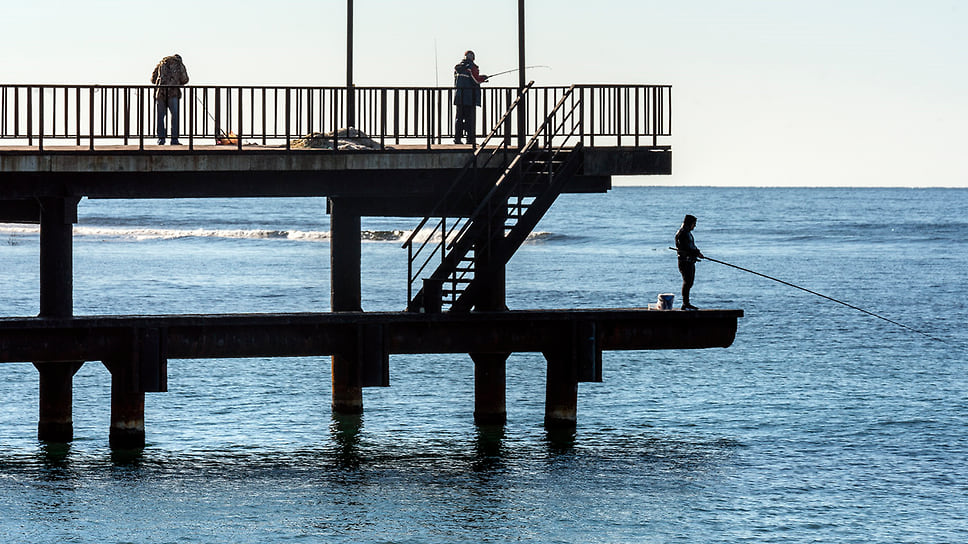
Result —
<path fill-rule="evenodd" d="M 499 223 L 504 232 L 503 222 Z M 478 255 L 478 280 L 483 289 L 475 308 L 478 311 L 507 310 L 505 302 L 504 263 L 493 262 L 488 255 Z M 507 359 L 509 353 L 471 353 L 474 361 L 474 423 L 504 425 L 507 423 Z"/>

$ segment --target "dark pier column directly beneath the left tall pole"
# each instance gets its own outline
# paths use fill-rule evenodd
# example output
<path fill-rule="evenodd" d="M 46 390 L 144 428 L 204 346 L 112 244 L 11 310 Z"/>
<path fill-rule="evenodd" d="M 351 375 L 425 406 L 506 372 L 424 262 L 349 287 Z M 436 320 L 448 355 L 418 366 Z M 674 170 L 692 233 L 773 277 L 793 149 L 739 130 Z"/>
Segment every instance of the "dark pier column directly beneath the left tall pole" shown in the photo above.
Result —
<path fill-rule="evenodd" d="M 334 312 L 361 312 L 360 214 L 339 198 L 327 202 L 330 214 L 330 306 Z M 333 355 L 333 412 L 363 413 L 361 363 L 358 356 Z"/>

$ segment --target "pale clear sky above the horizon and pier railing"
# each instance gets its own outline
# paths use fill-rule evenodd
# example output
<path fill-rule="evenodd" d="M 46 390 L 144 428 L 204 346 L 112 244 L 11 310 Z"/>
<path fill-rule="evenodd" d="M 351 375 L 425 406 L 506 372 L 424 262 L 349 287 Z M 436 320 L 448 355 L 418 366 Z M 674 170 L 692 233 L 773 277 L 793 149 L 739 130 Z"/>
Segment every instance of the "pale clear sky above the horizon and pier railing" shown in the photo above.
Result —
<path fill-rule="evenodd" d="M 12 5 L 11 5 L 12 4 Z M 517 67 L 517 0 L 354 0 L 354 83 Z M 4 6 L 0 82 L 346 84 L 346 0 Z M 619 184 L 968 187 L 968 2 L 526 0 L 537 85 L 667 84 L 673 174 Z M 494 84 L 515 85 L 511 74 Z"/>

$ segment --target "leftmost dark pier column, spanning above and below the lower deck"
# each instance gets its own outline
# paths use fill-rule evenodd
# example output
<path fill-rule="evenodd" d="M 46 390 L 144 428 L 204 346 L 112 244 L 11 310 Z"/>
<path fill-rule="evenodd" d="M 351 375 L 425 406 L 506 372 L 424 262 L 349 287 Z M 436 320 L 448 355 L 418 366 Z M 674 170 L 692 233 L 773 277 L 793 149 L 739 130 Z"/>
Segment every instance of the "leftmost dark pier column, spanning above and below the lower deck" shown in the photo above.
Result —
<path fill-rule="evenodd" d="M 77 221 L 74 197 L 40 199 L 40 317 L 74 313 L 72 235 Z M 40 373 L 37 438 L 47 442 L 74 439 L 72 385 L 81 361 L 34 363 Z"/>

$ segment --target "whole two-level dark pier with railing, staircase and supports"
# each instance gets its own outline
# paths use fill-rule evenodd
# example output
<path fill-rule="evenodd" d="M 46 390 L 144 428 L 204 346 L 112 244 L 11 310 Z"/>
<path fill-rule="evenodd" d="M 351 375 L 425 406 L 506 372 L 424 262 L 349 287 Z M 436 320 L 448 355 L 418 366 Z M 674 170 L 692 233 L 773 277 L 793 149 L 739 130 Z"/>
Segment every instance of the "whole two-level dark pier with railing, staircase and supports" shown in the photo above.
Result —
<path fill-rule="evenodd" d="M 41 440 L 73 437 L 71 382 L 110 371 L 110 443 L 145 443 L 145 393 L 169 359 L 332 357 L 335 413 L 391 385 L 391 355 L 468 354 L 474 416 L 503 424 L 505 361 L 547 362 L 545 424 L 573 427 L 578 383 L 608 350 L 729 346 L 741 310 L 522 309 L 505 265 L 564 193 L 671 173 L 671 88 L 485 89 L 478 145 L 454 145 L 449 88 L 185 87 L 183 146 L 153 145 L 153 87 L 0 86 L 0 222 L 40 225 L 40 312 L 0 318 L 0 362 L 39 371 Z M 350 123 L 352 121 L 352 123 Z M 346 127 L 365 133 L 360 147 Z M 322 147 L 306 147 L 314 135 Z M 75 316 L 72 229 L 82 199 L 326 197 L 330 311 Z M 361 218 L 413 218 L 399 312 L 361 304 Z M 590 279 L 590 281 L 592 281 Z M 280 369 L 284 372 L 284 369 Z"/>

